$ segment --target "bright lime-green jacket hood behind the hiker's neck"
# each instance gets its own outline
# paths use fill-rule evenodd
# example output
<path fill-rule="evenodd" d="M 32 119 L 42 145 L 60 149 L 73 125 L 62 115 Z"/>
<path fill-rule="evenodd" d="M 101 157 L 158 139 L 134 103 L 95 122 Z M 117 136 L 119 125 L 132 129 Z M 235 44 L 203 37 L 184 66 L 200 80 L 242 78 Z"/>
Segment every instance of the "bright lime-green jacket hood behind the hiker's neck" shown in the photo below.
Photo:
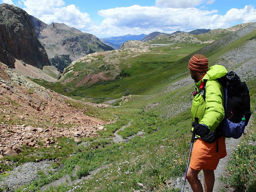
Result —
<path fill-rule="evenodd" d="M 226 68 L 222 65 L 214 65 L 211 66 L 208 70 L 208 72 L 206 72 L 205 76 L 202 78 L 204 79 L 218 79 L 224 75 L 226 75 L 228 73 L 228 71 L 226 70 Z"/>

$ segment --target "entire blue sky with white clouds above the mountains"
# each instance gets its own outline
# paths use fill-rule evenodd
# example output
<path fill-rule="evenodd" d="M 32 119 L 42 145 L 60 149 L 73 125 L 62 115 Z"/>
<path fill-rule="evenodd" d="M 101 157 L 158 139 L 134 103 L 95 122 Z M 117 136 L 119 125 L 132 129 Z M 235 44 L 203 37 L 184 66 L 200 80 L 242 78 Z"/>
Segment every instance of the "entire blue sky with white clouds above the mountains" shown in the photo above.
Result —
<path fill-rule="evenodd" d="M 46 24 L 64 23 L 98 38 L 190 32 L 256 22 L 255 0 L 0 0 Z"/>

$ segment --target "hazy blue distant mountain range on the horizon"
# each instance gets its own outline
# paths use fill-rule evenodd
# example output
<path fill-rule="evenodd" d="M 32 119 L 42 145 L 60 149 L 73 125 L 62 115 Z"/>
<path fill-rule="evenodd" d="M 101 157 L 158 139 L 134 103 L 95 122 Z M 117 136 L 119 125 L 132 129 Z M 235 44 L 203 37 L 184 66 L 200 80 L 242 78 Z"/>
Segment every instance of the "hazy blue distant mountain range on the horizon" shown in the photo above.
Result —
<path fill-rule="evenodd" d="M 144 37 L 147 35 L 145 34 L 140 34 L 140 35 L 124 35 L 124 36 L 118 36 L 118 37 L 107 37 L 107 38 L 102 38 L 101 40 L 106 40 L 107 42 L 110 42 L 111 44 L 114 44 L 114 46 L 117 46 L 120 48 L 120 46 L 129 40 L 142 40 Z M 119 49 L 118 48 L 118 49 Z"/>

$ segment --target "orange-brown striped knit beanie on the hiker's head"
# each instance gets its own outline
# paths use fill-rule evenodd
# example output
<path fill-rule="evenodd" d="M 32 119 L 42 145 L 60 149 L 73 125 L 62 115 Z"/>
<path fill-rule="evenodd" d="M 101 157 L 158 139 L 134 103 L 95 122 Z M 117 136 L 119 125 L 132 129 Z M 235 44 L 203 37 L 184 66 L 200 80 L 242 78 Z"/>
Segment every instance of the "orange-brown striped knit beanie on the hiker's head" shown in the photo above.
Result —
<path fill-rule="evenodd" d="M 207 72 L 208 59 L 203 55 L 194 55 L 188 62 L 188 68 L 197 72 Z"/>

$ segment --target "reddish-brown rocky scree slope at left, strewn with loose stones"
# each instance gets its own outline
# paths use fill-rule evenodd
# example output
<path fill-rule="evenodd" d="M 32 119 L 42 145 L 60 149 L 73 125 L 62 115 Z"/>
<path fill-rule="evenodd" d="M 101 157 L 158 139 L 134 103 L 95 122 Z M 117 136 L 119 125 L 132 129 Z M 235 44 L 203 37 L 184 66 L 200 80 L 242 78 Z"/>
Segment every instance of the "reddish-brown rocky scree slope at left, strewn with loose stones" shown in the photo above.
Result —
<path fill-rule="evenodd" d="M 69 104 L 72 99 L 62 96 L 17 74 L 0 62 L 0 158 L 17 156 L 21 146 L 55 148 L 58 138 L 66 136 L 79 141 L 79 137 L 97 136 L 108 122 L 87 116 L 86 106 L 95 104 L 78 102 L 84 108 Z"/>

